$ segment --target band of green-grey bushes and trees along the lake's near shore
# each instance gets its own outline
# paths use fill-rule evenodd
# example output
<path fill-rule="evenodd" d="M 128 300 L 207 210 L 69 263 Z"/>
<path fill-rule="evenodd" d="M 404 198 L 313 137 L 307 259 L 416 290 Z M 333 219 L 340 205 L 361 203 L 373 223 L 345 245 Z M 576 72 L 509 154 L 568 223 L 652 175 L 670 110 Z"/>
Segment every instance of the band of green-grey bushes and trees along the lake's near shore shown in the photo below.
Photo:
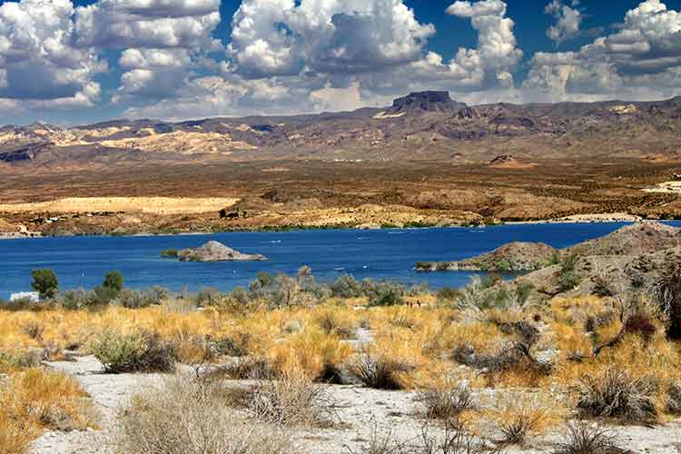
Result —
<path fill-rule="evenodd" d="M 173 250 L 163 253 L 172 254 Z M 110 271 L 104 276 L 102 285 L 92 290 L 83 287 L 62 291 L 54 271 L 35 270 L 32 286 L 40 292 L 41 301 L 0 299 L 0 309 L 41 310 L 63 307 L 67 310 L 94 310 L 114 305 L 126 309 L 138 309 L 161 305 L 165 301 L 182 301 L 194 307 L 205 307 L 222 303 L 248 306 L 258 303 L 268 308 L 311 306 L 334 298 L 365 299 L 369 306 L 393 306 L 405 304 L 405 298 L 434 294 L 427 283 L 407 285 L 397 281 L 377 281 L 370 278 L 358 281 L 350 274 L 342 274 L 334 281 L 322 283 L 312 275 L 311 268 L 302 266 L 295 275 L 258 272 L 248 288 L 237 286 L 232 291 L 216 288 L 202 288 L 199 291 L 172 292 L 161 286 L 143 290 L 124 287 L 123 275 Z M 443 294 L 457 292 L 457 289 L 440 289 Z M 226 302 L 225 302 L 226 301 Z"/>

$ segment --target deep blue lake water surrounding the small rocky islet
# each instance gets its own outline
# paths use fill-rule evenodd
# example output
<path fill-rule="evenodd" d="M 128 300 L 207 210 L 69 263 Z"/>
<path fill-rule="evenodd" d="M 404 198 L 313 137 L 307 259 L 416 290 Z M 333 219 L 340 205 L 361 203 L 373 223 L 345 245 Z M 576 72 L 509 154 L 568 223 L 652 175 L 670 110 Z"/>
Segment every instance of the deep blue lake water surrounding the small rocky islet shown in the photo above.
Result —
<path fill-rule="evenodd" d="M 469 272 L 419 273 L 419 261 L 458 260 L 513 241 L 546 242 L 562 248 L 617 230 L 623 223 L 512 224 L 487 228 L 413 230 L 314 230 L 231 232 L 210 235 L 58 237 L 0 241 L 0 298 L 30 290 L 31 271 L 51 268 L 61 289 L 99 285 L 107 271 L 121 271 L 133 289 L 161 285 L 172 291 L 247 286 L 258 271 L 295 273 L 310 265 L 319 281 L 350 273 L 432 288 L 459 287 Z M 216 240 L 268 262 L 177 262 L 162 259 L 167 248 L 183 249 Z"/>

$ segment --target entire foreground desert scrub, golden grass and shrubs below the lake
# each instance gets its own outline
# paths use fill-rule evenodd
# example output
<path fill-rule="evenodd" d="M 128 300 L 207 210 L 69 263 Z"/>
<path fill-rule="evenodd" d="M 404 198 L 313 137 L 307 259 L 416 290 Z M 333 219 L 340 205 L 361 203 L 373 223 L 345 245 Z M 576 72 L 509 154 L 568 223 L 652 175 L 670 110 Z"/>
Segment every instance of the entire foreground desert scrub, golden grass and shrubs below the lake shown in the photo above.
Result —
<path fill-rule="evenodd" d="M 302 267 L 173 295 L 126 289 L 112 272 L 92 291 L 0 309 L 0 452 L 28 452 L 45 430 L 98 428 L 78 382 L 45 365 L 86 356 L 109 376 L 166 377 L 118 410 L 122 452 L 304 452 L 302 439 L 328 431 L 344 434 L 329 452 L 624 452 L 607 425 L 681 413 L 672 276 L 617 298 L 538 301 L 495 278 L 432 292 L 321 283 Z M 376 424 L 353 441 L 343 390 L 410 396 L 403 417 L 418 431 Z"/>

